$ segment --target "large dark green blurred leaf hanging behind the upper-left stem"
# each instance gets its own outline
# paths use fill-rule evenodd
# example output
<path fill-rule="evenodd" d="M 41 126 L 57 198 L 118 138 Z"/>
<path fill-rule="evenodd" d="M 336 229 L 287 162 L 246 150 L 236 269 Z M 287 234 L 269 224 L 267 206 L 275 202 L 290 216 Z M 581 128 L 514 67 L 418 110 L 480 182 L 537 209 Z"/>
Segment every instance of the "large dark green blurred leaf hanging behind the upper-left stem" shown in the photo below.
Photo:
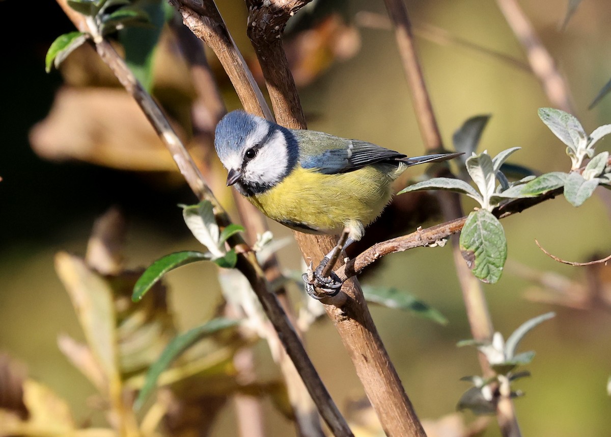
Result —
<path fill-rule="evenodd" d="M 164 9 L 167 2 L 147 0 L 140 4 L 147 13 L 152 26 L 125 28 L 119 32 L 119 41 L 125 48 L 125 62 L 131 72 L 142 83 L 142 86 L 150 91 L 153 85 L 153 59 L 167 19 Z"/>

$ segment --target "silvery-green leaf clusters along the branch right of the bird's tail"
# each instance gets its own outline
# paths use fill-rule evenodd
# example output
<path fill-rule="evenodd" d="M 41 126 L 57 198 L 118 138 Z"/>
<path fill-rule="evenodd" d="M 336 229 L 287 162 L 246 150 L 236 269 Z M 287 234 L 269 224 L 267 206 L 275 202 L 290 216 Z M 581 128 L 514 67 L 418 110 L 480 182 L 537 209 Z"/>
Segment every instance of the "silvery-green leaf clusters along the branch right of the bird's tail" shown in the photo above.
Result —
<path fill-rule="evenodd" d="M 477 116 L 467 120 L 453 136 L 456 150 L 471 154 L 464 161 L 466 172 L 461 174 L 470 177 L 477 190 L 464 179 L 434 177 L 399 192 L 449 190 L 467 195 L 480 204 L 467 217 L 460 247 L 469 268 L 483 282 L 496 283 L 507 260 L 507 238 L 499 219 L 493 214 L 494 209 L 512 200 L 536 197 L 560 187 L 564 187 L 569 203 L 580 206 L 598 185 L 611 189 L 609 152 L 595 155 L 596 143 L 611 133 L 611 124 L 602 125 L 587 135 L 571 114 L 553 108 L 540 108 L 538 114 L 554 135 L 566 144 L 566 154 L 572 163 L 568 173 L 554 171 L 535 177 L 533 171 L 510 166 L 513 173 L 516 173 L 516 168 L 521 176 L 526 173 L 526 176 L 510 182 L 503 168 L 507 167 L 508 157 L 520 148 L 506 149 L 496 157 L 491 157 L 487 151 L 476 154 L 481 132 L 488 121 L 488 116 Z M 590 160 L 582 168 L 585 158 Z"/>

